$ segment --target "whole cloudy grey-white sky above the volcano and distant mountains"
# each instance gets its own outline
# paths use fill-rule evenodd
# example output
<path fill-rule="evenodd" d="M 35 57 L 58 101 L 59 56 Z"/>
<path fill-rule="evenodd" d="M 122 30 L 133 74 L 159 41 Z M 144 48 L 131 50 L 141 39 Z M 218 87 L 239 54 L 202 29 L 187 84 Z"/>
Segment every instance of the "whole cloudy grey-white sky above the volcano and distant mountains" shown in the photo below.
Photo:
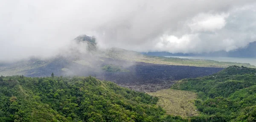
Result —
<path fill-rule="evenodd" d="M 256 41 L 255 0 L 0 0 L 0 60 L 48 57 L 80 34 L 100 48 L 202 53 Z"/>

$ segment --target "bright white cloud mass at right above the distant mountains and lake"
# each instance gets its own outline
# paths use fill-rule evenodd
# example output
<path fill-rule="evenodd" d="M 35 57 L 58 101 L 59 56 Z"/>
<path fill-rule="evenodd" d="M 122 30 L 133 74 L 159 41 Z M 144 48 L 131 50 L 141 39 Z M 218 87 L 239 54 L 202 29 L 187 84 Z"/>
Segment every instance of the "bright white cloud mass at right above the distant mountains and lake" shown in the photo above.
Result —
<path fill-rule="evenodd" d="M 177 32 L 160 36 L 151 50 L 209 53 L 244 48 L 256 41 L 256 14 L 250 7 L 233 9 L 229 14 L 200 13 L 187 20 Z"/>

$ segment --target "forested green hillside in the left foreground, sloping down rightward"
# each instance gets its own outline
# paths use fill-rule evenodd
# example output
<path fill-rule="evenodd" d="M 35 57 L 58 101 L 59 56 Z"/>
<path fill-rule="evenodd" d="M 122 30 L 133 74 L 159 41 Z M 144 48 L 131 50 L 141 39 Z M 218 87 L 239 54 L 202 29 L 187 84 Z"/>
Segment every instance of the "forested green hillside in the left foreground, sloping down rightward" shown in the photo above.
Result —
<path fill-rule="evenodd" d="M 187 122 L 156 102 L 94 77 L 0 77 L 0 122 Z"/>

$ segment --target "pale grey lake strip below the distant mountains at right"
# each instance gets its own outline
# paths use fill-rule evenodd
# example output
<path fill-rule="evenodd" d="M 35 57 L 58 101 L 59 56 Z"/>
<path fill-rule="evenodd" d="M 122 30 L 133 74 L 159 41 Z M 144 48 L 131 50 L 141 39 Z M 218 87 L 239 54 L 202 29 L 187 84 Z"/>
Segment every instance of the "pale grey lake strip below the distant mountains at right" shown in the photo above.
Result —
<path fill-rule="evenodd" d="M 256 58 L 240 58 L 240 57 L 186 57 L 186 56 L 171 56 L 171 57 L 177 57 L 177 58 L 182 58 L 182 59 L 215 60 L 215 61 L 220 61 L 220 62 L 250 63 L 251 65 L 255 65 L 256 66 Z"/>

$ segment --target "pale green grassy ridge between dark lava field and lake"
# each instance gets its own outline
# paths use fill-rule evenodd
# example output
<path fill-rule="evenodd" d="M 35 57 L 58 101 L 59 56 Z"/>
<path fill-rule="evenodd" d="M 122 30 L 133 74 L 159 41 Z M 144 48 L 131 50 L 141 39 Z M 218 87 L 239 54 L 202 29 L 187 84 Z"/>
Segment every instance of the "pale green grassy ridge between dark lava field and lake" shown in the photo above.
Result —
<path fill-rule="evenodd" d="M 146 56 L 135 51 L 128 51 L 120 48 L 112 48 L 105 51 L 102 57 L 108 57 L 119 60 L 146 62 L 154 64 L 165 64 L 165 65 L 187 65 L 197 67 L 215 67 L 215 68 L 227 68 L 232 65 L 245 66 L 249 68 L 256 68 L 254 65 L 249 63 L 237 63 L 237 62 L 219 62 L 214 60 L 195 60 L 195 59 L 181 59 L 176 57 L 155 57 Z"/>

